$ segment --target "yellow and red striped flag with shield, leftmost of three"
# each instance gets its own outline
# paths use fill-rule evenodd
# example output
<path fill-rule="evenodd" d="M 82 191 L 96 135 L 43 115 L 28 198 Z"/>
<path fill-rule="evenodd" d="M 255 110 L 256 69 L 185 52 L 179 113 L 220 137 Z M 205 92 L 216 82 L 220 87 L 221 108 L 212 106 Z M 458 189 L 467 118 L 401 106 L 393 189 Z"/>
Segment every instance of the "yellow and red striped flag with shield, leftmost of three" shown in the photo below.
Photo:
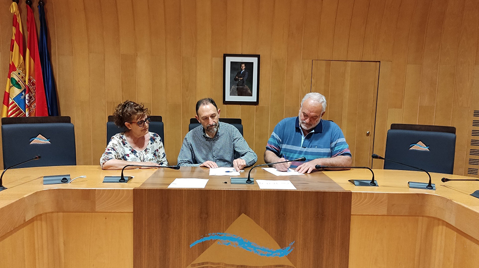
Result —
<path fill-rule="evenodd" d="M 13 14 L 13 36 L 10 43 L 10 68 L 7 76 L 2 117 L 25 116 L 25 65 L 23 63 L 23 33 L 17 3 L 10 6 Z"/>

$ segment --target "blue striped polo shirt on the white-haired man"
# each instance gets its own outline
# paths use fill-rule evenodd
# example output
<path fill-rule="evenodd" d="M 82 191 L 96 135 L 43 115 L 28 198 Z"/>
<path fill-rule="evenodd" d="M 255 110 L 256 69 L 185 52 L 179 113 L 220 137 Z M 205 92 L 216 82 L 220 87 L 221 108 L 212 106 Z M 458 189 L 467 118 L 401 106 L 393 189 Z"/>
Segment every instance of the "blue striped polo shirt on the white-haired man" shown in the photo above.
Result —
<path fill-rule="evenodd" d="M 316 158 L 352 156 L 341 129 L 334 122 L 321 120 L 304 136 L 298 116 L 284 118 L 276 125 L 266 150 L 278 157 L 284 156 L 286 160 L 305 157 L 306 161 L 311 161 Z M 302 163 L 304 162 L 291 162 L 291 167 Z"/>

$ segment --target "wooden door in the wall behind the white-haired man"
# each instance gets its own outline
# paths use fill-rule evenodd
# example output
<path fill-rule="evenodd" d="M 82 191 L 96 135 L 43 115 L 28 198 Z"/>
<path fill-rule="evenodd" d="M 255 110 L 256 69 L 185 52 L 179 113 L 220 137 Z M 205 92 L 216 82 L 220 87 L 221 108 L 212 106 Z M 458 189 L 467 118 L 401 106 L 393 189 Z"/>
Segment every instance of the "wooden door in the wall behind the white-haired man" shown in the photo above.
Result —
<path fill-rule="evenodd" d="M 315 60 L 311 92 L 326 97 L 324 119 L 342 129 L 354 166 L 371 167 L 374 144 L 379 62 Z"/>

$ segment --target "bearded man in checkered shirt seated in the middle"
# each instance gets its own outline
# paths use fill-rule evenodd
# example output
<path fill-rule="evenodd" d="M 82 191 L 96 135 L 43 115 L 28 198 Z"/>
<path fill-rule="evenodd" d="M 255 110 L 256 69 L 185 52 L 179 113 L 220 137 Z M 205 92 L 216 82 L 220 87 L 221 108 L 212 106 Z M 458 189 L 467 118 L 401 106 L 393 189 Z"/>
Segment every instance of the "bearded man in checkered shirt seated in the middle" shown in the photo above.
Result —
<path fill-rule="evenodd" d="M 196 119 L 201 123 L 183 139 L 178 166 L 234 167 L 240 171 L 258 160 L 248 143 L 234 126 L 219 122 L 220 109 L 206 98 L 196 103 Z M 240 155 L 234 159 L 234 153 Z"/>

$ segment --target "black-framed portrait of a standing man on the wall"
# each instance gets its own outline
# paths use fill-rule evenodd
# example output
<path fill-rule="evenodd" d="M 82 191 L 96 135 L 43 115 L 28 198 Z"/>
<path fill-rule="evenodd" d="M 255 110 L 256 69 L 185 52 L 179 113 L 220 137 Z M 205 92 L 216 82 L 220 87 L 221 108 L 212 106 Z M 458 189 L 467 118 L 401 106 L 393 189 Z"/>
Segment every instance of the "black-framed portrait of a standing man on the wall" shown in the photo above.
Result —
<path fill-rule="evenodd" d="M 223 103 L 259 102 L 259 55 L 223 54 Z"/>

